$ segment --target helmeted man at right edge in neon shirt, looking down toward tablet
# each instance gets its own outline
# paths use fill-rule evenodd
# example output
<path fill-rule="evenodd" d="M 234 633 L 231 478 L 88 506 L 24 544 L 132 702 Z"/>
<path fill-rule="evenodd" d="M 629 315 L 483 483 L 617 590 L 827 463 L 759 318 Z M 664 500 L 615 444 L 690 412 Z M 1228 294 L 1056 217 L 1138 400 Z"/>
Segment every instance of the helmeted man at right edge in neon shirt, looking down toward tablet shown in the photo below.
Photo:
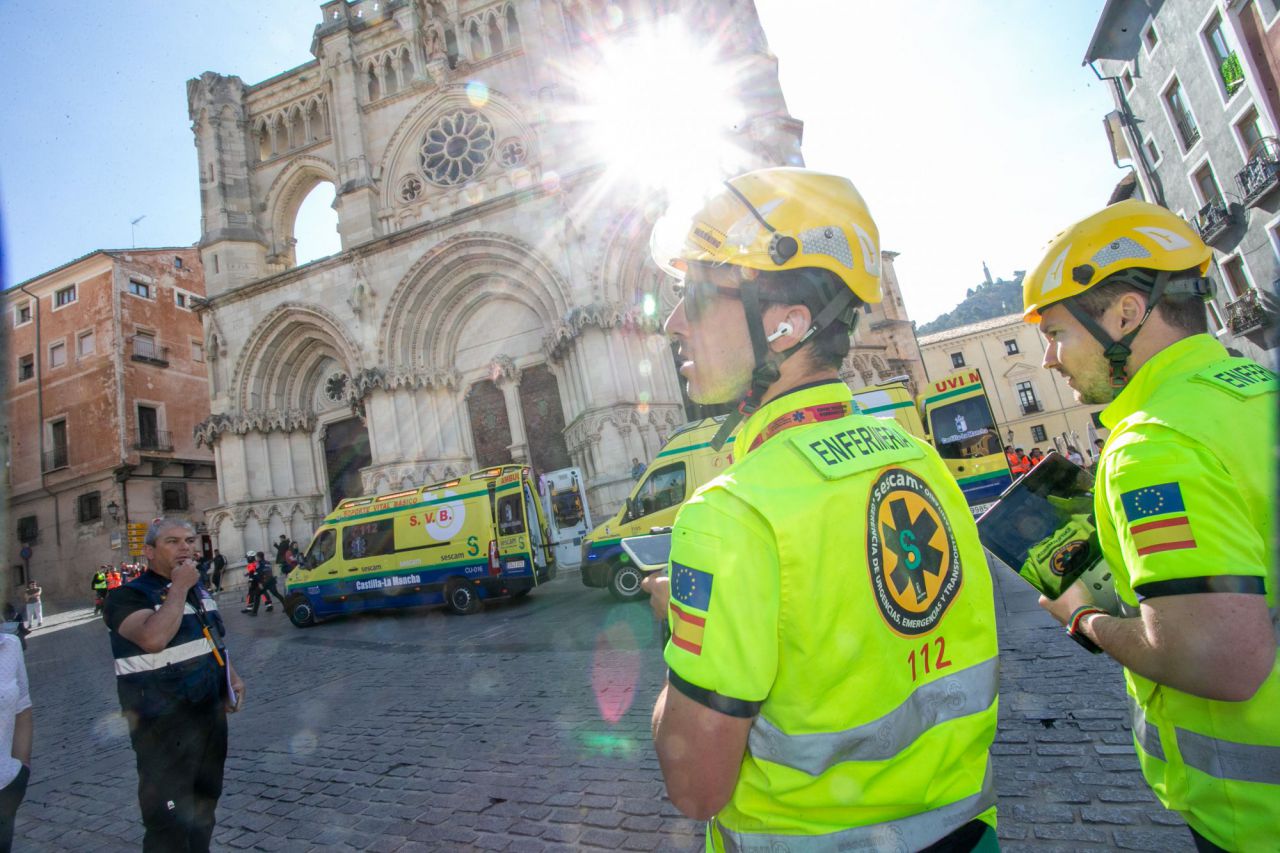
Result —
<path fill-rule="evenodd" d="M 1129 200 L 1053 238 L 1023 284 L 1044 366 L 1107 403 L 1094 512 L 1116 592 L 1041 599 L 1125 670 L 1134 745 L 1201 850 L 1280 844 L 1275 625 L 1276 375 L 1207 334 L 1213 252 Z"/>

